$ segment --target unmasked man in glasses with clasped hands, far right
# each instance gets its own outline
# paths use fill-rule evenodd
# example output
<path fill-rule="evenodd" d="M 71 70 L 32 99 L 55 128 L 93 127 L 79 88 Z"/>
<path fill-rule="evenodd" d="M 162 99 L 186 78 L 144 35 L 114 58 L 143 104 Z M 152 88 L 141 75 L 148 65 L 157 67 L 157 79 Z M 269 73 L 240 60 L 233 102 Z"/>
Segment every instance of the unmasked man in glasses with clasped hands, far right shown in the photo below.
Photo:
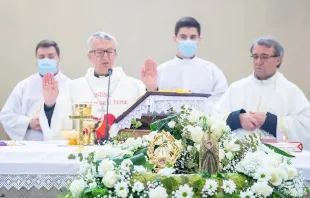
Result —
<path fill-rule="evenodd" d="M 310 149 L 310 104 L 304 93 L 279 68 L 284 50 L 269 37 L 251 47 L 254 73 L 233 83 L 215 104 L 238 136 L 259 133 L 265 138 L 301 141 Z"/>

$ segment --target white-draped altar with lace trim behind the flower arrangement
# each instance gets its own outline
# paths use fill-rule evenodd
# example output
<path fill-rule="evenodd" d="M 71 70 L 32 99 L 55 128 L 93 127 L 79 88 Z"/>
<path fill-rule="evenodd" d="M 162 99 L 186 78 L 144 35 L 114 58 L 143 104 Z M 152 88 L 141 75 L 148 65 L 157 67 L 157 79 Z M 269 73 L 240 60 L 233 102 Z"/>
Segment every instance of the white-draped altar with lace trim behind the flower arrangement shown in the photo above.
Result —
<path fill-rule="evenodd" d="M 64 194 L 81 165 L 78 159 L 68 159 L 76 147 L 67 146 L 65 141 L 22 143 L 0 147 L 0 197 L 47 198 Z M 85 153 L 96 147 L 86 146 Z M 294 166 L 303 172 L 310 185 L 310 152 L 293 155 Z"/>

